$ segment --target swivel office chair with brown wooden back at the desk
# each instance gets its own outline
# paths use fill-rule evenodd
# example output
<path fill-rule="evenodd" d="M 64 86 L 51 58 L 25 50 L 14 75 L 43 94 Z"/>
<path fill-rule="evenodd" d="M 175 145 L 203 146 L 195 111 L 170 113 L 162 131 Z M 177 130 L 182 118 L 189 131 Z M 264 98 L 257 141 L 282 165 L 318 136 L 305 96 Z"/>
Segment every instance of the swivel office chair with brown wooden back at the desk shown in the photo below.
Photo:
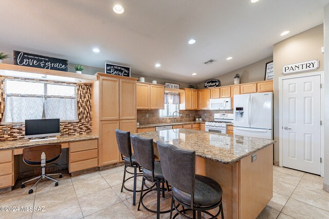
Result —
<path fill-rule="evenodd" d="M 45 167 L 46 164 L 50 164 L 55 162 L 60 158 L 62 154 L 62 145 L 59 144 L 48 144 L 48 145 L 36 145 L 23 149 L 23 161 L 27 165 L 31 166 L 39 166 L 41 165 L 42 174 L 40 176 L 31 178 L 31 180 L 25 181 L 22 183 L 21 188 L 25 188 L 25 184 L 31 181 L 36 180 L 36 182 L 31 186 L 29 190 L 29 194 L 33 193 L 33 187 L 38 184 L 44 178 L 48 178 L 48 180 L 52 180 L 55 182 L 55 186 L 58 186 L 58 181 L 50 176 L 59 176 L 63 177 L 62 173 L 53 173 L 46 174 Z M 38 180 L 37 180 L 38 179 Z"/>

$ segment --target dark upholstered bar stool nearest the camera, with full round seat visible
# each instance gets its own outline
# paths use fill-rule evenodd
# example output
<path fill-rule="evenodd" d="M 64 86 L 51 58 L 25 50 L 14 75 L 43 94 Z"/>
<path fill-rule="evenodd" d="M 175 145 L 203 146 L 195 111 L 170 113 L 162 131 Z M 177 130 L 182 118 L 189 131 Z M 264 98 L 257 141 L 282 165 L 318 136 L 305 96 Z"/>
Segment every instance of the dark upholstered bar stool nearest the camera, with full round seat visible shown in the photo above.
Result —
<path fill-rule="evenodd" d="M 222 219 L 223 204 L 222 204 L 222 187 L 209 177 L 195 174 L 195 151 L 184 150 L 173 145 L 163 144 L 157 141 L 159 150 L 163 176 L 171 184 L 172 202 L 170 218 L 172 218 L 172 210 L 175 202 L 186 207 L 187 209 L 178 210 L 174 215 L 182 215 L 186 218 L 186 211 L 193 211 L 193 218 L 197 213 L 197 218 L 201 219 L 201 212 L 204 212 L 216 218 L 220 213 Z M 216 215 L 211 214 L 207 210 L 219 207 Z"/>

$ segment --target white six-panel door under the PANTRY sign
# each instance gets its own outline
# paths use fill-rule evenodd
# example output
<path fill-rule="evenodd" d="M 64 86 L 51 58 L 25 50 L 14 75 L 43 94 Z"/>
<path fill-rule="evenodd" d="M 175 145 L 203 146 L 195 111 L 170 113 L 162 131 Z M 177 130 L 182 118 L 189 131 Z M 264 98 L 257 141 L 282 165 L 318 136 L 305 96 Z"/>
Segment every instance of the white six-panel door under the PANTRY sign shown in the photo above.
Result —
<path fill-rule="evenodd" d="M 283 166 L 321 172 L 321 77 L 284 79 L 282 84 Z"/>

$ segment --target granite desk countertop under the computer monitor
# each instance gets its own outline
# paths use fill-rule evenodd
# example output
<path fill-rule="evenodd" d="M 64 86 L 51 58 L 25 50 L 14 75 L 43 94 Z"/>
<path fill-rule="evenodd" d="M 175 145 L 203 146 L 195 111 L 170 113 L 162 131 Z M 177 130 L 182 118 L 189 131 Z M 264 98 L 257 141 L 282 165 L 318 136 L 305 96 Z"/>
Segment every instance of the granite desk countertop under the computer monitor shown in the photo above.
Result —
<path fill-rule="evenodd" d="M 42 145 L 42 144 L 79 142 L 79 141 L 87 141 L 87 140 L 95 140 L 95 139 L 98 139 L 98 136 L 93 134 L 69 135 L 69 136 L 61 136 L 61 137 L 57 136 L 57 140 L 41 141 L 41 142 L 29 142 L 29 140 L 24 139 L 24 140 L 0 142 L 0 150 L 24 148 L 24 147 L 30 147 L 30 146 Z"/>

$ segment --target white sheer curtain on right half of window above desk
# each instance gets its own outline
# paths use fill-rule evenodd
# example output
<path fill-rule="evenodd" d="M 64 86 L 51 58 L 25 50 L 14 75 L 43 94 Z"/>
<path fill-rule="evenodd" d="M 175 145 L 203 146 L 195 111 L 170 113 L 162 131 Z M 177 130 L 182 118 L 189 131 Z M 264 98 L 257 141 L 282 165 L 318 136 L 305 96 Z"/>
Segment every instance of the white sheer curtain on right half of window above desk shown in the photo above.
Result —
<path fill-rule="evenodd" d="M 78 122 L 77 98 L 45 98 L 45 117 L 60 118 L 61 122 Z"/>

